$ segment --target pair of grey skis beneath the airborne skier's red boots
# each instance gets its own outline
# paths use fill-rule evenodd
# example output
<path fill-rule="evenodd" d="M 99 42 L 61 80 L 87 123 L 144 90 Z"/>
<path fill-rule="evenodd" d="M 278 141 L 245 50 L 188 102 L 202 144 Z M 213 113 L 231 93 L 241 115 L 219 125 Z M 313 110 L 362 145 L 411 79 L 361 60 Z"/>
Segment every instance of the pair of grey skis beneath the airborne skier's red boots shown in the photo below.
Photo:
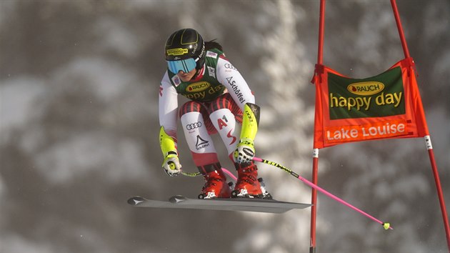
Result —
<path fill-rule="evenodd" d="M 304 209 L 311 204 L 283 202 L 274 199 L 189 199 L 177 195 L 169 201 L 131 197 L 128 204 L 134 207 L 174 208 L 174 209 L 206 209 L 221 211 L 266 212 L 281 214 L 291 209 Z"/>

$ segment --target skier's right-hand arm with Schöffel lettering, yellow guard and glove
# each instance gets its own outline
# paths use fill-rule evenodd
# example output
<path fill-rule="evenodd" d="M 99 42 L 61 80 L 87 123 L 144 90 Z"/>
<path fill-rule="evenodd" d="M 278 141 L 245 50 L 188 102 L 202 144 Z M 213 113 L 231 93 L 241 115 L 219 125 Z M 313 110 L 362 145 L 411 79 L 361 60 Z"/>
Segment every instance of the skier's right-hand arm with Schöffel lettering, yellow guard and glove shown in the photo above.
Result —
<path fill-rule="evenodd" d="M 243 112 L 240 140 L 233 154 L 234 161 L 239 164 L 251 162 L 255 155 L 254 139 L 258 132 L 259 106 L 255 104 L 254 95 L 244 77 L 228 60 L 219 58 L 216 76 Z"/>

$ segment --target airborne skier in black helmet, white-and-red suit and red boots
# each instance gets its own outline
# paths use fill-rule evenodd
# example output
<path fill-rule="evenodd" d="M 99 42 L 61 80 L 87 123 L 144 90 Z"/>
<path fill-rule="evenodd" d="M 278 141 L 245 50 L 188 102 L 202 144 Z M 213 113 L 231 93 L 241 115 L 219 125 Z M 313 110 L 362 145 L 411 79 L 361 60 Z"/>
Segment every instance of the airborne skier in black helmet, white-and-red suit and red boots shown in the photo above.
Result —
<path fill-rule="evenodd" d="M 253 162 L 259 106 L 239 71 L 216 41 L 204 41 L 194 29 L 175 31 L 166 41 L 167 71 L 159 86 L 159 143 L 162 167 L 181 173 L 176 144 L 178 117 L 194 164 L 206 184 L 201 199 L 270 197 L 263 194 Z M 178 95 L 190 99 L 180 108 Z M 234 162 L 238 179 L 231 191 L 210 134 L 219 135 Z"/>

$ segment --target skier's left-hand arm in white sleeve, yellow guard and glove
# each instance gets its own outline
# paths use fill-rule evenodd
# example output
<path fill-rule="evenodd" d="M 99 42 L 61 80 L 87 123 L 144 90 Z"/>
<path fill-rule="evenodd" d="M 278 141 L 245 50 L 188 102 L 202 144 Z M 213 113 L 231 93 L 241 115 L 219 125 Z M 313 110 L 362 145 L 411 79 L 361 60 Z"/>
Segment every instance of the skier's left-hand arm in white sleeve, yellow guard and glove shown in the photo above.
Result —
<path fill-rule="evenodd" d="M 181 172 L 181 164 L 176 149 L 176 123 L 178 112 L 178 94 L 169 81 L 164 77 L 159 86 L 159 145 L 164 156 L 162 167 L 169 176 L 176 176 Z"/>

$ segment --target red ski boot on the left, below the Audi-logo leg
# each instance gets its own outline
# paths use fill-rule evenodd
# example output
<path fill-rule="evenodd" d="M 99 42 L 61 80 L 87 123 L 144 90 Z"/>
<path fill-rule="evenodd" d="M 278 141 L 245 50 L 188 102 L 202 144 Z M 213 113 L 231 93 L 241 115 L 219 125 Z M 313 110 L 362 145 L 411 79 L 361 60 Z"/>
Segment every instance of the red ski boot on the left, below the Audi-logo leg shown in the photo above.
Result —
<path fill-rule="evenodd" d="M 207 172 L 204 175 L 205 186 L 201 189 L 199 199 L 229 198 L 231 189 L 226 184 L 226 177 L 221 169 Z"/>

